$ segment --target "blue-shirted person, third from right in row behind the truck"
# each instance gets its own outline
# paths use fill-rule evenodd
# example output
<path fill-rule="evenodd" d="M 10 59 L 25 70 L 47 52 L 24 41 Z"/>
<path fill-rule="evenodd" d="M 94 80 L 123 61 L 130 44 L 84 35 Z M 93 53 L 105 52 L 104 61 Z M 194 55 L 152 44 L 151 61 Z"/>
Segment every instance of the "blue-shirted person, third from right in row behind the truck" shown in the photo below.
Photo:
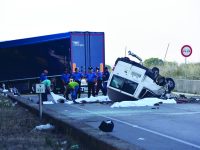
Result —
<path fill-rule="evenodd" d="M 95 97 L 95 82 L 96 82 L 96 74 L 93 72 L 93 68 L 89 67 L 88 68 L 88 73 L 86 74 L 86 80 L 88 83 L 88 98 L 91 96 L 91 91 L 92 91 L 92 96 Z"/>

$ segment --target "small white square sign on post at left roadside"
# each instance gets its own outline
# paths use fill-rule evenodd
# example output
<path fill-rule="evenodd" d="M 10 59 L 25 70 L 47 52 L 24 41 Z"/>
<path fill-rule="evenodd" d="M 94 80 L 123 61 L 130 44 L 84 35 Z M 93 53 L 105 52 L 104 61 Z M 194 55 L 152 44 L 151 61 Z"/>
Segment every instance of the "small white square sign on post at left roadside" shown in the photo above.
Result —
<path fill-rule="evenodd" d="M 36 93 L 39 94 L 39 111 L 40 111 L 40 121 L 42 120 L 42 98 L 41 94 L 45 93 L 45 85 L 44 84 L 36 84 Z"/>

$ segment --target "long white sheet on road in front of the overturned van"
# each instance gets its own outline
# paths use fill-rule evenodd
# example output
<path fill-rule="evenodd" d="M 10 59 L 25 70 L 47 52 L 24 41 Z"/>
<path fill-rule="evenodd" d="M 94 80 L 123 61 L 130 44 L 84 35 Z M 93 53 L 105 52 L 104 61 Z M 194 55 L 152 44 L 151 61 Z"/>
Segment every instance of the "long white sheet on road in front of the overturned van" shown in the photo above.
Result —
<path fill-rule="evenodd" d="M 174 99 L 159 99 L 159 98 L 144 98 L 138 101 L 122 101 L 122 102 L 115 102 L 111 108 L 115 107 L 135 107 L 135 106 L 154 106 L 156 103 L 167 103 L 167 104 L 176 104 Z"/>

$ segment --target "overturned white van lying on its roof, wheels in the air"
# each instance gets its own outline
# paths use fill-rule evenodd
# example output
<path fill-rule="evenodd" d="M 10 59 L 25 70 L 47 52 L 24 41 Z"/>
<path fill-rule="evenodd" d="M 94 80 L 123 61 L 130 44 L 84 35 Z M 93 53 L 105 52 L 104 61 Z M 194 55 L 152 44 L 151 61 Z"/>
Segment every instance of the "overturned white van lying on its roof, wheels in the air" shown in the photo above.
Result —
<path fill-rule="evenodd" d="M 152 69 L 143 66 L 142 59 L 131 51 L 129 55 L 140 62 L 128 57 L 118 58 L 108 80 L 108 97 L 114 101 L 132 101 L 147 97 L 166 98 L 175 88 L 172 78 L 159 74 L 159 68 Z"/>

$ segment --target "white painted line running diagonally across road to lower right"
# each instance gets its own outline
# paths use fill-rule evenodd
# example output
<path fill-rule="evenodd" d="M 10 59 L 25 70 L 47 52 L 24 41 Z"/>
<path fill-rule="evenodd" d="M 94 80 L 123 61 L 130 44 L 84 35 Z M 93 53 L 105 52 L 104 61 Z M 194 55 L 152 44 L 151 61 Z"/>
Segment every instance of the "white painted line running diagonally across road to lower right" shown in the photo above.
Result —
<path fill-rule="evenodd" d="M 70 106 L 72 106 L 72 105 L 70 105 Z M 89 113 L 91 113 L 91 114 L 95 114 L 95 115 L 97 115 L 97 116 L 101 116 L 101 117 L 104 117 L 104 118 L 107 118 L 107 119 L 110 119 L 110 120 L 115 120 L 115 121 L 117 121 L 117 122 L 126 124 L 126 125 L 128 125 L 128 126 L 130 126 L 130 127 L 138 128 L 138 129 L 140 129 L 140 130 L 147 131 L 147 132 L 150 132 L 150 133 L 153 133 L 153 134 L 156 134 L 156 135 L 159 135 L 159 136 L 162 136 L 162 137 L 165 137 L 165 138 L 168 138 L 168 139 L 177 141 L 177 142 L 179 142 L 179 143 L 182 143 L 182 144 L 189 145 L 189 146 L 192 146 L 192 147 L 195 147 L 195 148 L 200 149 L 200 145 L 196 145 L 196 144 L 193 144 L 193 143 L 190 143 L 190 142 L 187 142 L 187 141 L 184 141 L 184 140 L 181 140 L 181 139 L 178 139 L 178 138 L 175 138 L 175 137 L 172 137 L 172 136 L 169 136 L 169 135 L 166 135 L 166 134 L 163 134 L 163 133 L 154 131 L 154 130 L 150 130 L 150 129 L 147 129 L 147 128 L 144 128 L 144 127 L 140 127 L 140 126 L 138 126 L 138 125 L 134 125 L 134 124 L 131 124 L 131 123 L 128 123 L 128 122 L 119 120 L 119 119 L 115 119 L 115 118 L 112 118 L 112 117 L 107 117 L 107 116 L 104 116 L 104 115 L 100 115 L 100 114 L 98 114 L 98 113 L 96 113 L 96 112 L 92 112 L 92 111 L 89 111 L 89 110 L 87 110 L 87 109 L 80 108 L 80 107 L 78 107 L 78 106 L 72 106 L 72 107 L 78 108 L 78 109 L 80 109 L 80 110 L 83 110 L 83 111 L 89 112 Z"/>

